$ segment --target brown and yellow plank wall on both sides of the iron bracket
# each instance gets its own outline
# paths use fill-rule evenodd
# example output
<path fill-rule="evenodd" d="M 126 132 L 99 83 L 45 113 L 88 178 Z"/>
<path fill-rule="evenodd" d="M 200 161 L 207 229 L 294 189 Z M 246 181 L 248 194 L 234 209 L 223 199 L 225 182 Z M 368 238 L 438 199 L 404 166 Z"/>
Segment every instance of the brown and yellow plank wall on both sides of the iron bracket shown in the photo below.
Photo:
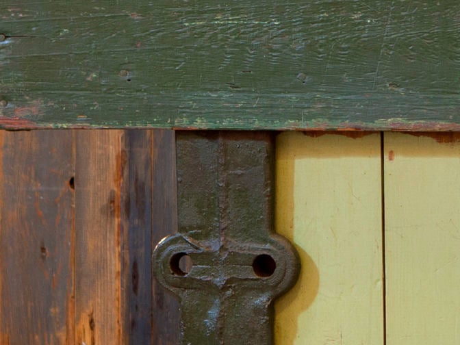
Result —
<path fill-rule="evenodd" d="M 281 133 L 276 344 L 457 345 L 459 171 L 455 133 Z M 0 131 L 0 344 L 178 344 L 175 198 L 172 131 Z"/>

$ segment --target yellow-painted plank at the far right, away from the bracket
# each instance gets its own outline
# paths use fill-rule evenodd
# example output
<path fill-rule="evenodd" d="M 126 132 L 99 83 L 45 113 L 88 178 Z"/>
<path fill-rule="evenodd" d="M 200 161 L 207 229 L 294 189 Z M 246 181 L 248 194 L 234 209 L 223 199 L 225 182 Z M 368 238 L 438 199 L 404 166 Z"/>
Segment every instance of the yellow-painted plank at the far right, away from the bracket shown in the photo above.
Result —
<path fill-rule="evenodd" d="M 460 344 L 459 140 L 385 133 L 388 345 Z"/>

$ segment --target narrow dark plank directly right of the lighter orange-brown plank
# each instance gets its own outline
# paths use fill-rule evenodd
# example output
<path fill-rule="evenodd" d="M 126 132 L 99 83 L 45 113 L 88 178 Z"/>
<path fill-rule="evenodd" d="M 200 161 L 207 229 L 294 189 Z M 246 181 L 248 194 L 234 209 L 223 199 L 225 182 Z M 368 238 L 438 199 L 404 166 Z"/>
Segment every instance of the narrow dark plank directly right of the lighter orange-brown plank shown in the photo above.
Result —
<path fill-rule="evenodd" d="M 151 344 L 152 337 L 152 140 L 151 130 L 125 131 L 123 140 L 123 344 Z"/>

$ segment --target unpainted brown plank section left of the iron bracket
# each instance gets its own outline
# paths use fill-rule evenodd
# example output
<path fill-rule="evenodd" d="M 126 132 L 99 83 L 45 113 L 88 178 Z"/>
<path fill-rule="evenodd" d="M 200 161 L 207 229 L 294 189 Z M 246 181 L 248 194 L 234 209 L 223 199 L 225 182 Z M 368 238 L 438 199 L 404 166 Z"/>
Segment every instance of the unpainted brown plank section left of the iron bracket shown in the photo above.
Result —
<path fill-rule="evenodd" d="M 175 344 L 172 131 L 0 131 L 0 343 Z M 161 184 L 154 184 L 157 181 Z"/>

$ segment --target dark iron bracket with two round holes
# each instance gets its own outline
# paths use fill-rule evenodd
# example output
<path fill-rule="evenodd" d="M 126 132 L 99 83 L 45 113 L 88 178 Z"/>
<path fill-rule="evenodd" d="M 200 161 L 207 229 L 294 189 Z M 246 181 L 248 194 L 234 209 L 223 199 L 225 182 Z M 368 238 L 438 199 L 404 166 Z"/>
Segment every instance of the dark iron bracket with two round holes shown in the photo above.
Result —
<path fill-rule="evenodd" d="M 270 132 L 178 131 L 178 233 L 153 253 L 181 304 L 181 344 L 272 344 L 272 301 L 298 278 L 273 230 Z M 189 266 L 186 266 L 189 259 Z"/>

